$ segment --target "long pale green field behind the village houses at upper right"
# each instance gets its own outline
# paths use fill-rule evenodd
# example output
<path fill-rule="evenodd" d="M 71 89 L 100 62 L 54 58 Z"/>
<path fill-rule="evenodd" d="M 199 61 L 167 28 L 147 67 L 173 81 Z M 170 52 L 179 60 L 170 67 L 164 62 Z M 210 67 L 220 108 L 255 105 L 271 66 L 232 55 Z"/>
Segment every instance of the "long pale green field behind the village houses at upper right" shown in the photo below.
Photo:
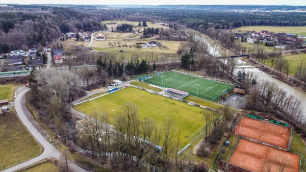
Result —
<path fill-rule="evenodd" d="M 247 31 L 269 31 L 274 33 L 293 33 L 297 35 L 306 35 L 306 27 L 274 27 L 274 26 L 247 26 L 233 29 L 234 32 L 247 32 Z"/>

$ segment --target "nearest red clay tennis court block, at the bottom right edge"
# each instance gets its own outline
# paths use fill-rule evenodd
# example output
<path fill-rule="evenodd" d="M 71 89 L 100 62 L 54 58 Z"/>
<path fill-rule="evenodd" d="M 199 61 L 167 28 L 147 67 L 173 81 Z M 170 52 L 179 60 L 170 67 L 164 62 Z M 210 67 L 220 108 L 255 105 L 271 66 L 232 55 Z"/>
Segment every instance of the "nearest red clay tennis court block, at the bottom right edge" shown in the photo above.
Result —
<path fill-rule="evenodd" d="M 267 164 L 271 164 L 271 172 L 274 172 L 279 167 L 279 165 L 276 165 L 276 161 L 282 159 L 284 162 L 291 161 L 284 171 L 298 172 L 300 157 L 300 155 L 268 145 L 241 139 L 230 159 L 230 163 L 254 172 L 267 171 Z"/>

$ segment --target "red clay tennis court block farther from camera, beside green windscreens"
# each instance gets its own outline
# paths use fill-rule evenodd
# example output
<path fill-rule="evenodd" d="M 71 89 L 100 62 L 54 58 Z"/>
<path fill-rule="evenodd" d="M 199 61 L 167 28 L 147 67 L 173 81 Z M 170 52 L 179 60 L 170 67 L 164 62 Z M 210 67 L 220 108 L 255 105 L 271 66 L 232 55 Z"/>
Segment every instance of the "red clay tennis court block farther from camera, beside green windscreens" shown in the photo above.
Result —
<path fill-rule="evenodd" d="M 288 150 L 290 128 L 243 116 L 233 134 Z"/>

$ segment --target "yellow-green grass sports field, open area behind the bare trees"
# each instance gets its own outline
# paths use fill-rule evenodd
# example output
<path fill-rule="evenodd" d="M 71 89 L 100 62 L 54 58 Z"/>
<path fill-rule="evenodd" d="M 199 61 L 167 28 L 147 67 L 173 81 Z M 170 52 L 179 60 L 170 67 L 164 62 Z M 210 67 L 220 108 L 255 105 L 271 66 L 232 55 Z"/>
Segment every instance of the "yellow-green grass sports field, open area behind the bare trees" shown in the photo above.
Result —
<path fill-rule="evenodd" d="M 115 113 L 122 111 L 121 107 L 127 102 L 133 103 L 139 108 L 140 118 L 148 116 L 160 127 L 163 126 L 165 120 L 171 118 L 176 131 L 182 128 L 181 148 L 189 143 L 189 136 L 206 123 L 202 118 L 202 112 L 205 109 L 134 87 L 124 88 L 93 101 L 74 106 L 74 108 L 89 116 L 94 111 L 107 112 L 109 117 L 113 119 Z"/>

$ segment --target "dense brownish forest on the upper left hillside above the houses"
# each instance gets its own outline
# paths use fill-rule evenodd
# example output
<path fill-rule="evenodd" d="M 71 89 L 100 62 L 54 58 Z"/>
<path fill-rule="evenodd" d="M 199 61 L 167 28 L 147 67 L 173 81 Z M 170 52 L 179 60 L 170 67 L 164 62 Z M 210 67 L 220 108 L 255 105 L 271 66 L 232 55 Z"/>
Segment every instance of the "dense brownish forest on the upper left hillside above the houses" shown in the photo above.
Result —
<path fill-rule="evenodd" d="M 16 7 L 15 7 L 16 6 Z M 87 14 L 69 8 L 20 6 L 0 11 L 0 53 L 42 46 L 52 43 L 62 33 L 98 31 L 104 29 L 100 21 L 111 19 L 108 13 Z"/>

